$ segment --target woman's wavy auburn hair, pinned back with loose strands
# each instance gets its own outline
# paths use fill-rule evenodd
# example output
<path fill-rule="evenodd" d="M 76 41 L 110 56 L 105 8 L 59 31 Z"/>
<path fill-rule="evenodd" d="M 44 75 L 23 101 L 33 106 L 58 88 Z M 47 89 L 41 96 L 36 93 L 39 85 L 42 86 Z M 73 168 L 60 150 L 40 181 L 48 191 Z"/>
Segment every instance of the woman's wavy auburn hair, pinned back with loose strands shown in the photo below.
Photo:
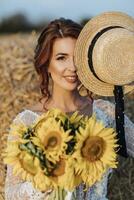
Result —
<path fill-rule="evenodd" d="M 40 90 L 42 93 L 42 97 L 39 99 L 40 102 L 44 97 L 46 98 L 47 102 L 51 96 L 49 90 L 50 76 L 48 73 L 48 65 L 52 53 L 54 40 L 64 37 L 72 37 L 77 39 L 81 30 L 82 26 L 80 24 L 70 19 L 64 18 L 51 21 L 42 30 L 37 41 L 34 55 L 35 70 L 40 76 Z M 45 108 L 45 105 L 43 106 Z"/>

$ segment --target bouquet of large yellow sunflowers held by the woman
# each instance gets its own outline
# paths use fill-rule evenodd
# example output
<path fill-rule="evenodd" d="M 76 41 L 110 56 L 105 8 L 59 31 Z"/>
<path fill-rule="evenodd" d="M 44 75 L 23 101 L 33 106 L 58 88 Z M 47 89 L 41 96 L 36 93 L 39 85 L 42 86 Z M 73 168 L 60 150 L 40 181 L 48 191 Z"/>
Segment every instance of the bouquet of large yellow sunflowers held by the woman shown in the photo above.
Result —
<path fill-rule="evenodd" d="M 66 191 L 80 183 L 90 187 L 117 166 L 116 133 L 95 114 L 69 117 L 51 109 L 31 126 L 12 124 L 10 135 L 17 139 L 7 142 L 4 162 L 13 166 L 14 175 L 40 191 L 61 189 L 62 199 Z"/>

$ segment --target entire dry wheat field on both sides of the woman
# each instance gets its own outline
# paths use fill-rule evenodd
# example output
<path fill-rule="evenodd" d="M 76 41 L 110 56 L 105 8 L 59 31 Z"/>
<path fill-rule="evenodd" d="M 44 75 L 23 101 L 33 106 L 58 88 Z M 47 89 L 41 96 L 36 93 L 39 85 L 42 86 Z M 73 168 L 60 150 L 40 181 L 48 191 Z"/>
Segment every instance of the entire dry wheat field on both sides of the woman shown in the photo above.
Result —
<path fill-rule="evenodd" d="M 35 32 L 0 36 L 0 153 L 15 115 L 36 104 L 40 96 L 39 80 L 33 67 L 36 39 Z M 131 120 L 133 101 L 134 93 L 125 97 L 125 112 Z M 4 199 L 5 173 L 0 157 L 0 200 Z M 119 168 L 110 179 L 108 196 L 110 200 L 134 199 L 134 159 L 120 158 Z"/>

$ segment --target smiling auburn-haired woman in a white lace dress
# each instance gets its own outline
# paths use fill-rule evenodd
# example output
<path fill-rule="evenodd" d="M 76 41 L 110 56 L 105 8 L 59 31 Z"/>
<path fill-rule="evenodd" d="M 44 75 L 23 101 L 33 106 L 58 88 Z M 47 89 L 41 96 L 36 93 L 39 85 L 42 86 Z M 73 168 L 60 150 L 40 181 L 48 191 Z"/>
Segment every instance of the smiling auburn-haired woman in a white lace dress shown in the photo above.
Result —
<path fill-rule="evenodd" d="M 19 113 L 14 123 L 22 121 L 30 125 L 40 114 L 51 108 L 59 108 L 68 115 L 76 110 L 88 116 L 95 112 L 97 118 L 103 120 L 106 126 L 115 126 L 114 106 L 111 103 L 100 99 L 93 101 L 91 93 L 84 97 L 79 94 L 80 81 L 73 58 L 76 39 L 81 29 L 79 24 L 62 18 L 52 21 L 42 31 L 35 50 L 35 69 L 40 77 L 42 98 L 37 105 Z M 129 137 L 134 126 L 127 117 L 125 119 L 126 135 Z M 11 138 L 9 134 L 9 140 L 15 138 Z M 131 152 L 134 152 L 134 149 L 131 149 Z M 106 200 L 110 172 L 109 169 L 102 180 L 87 192 L 83 192 L 83 184 L 77 187 L 76 199 Z M 35 190 L 30 182 L 24 182 L 19 177 L 13 176 L 11 166 L 7 166 L 6 200 L 49 199 L 51 192 L 51 190 L 42 192 Z M 72 194 L 68 192 L 67 198 L 71 197 Z"/>

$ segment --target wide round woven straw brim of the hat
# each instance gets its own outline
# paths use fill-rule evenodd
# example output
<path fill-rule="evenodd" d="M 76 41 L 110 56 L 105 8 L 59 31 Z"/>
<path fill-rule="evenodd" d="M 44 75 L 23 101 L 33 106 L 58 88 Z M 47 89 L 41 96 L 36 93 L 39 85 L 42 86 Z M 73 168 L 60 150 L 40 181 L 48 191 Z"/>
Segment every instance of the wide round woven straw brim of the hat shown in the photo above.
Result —
<path fill-rule="evenodd" d="M 88 50 L 94 36 L 109 26 L 122 26 L 134 32 L 134 19 L 122 12 L 105 12 L 92 18 L 82 29 L 75 46 L 74 62 L 82 84 L 90 91 L 101 96 L 114 96 L 114 85 L 97 79 L 90 70 Z M 134 90 L 134 85 L 125 85 L 124 94 Z"/>

